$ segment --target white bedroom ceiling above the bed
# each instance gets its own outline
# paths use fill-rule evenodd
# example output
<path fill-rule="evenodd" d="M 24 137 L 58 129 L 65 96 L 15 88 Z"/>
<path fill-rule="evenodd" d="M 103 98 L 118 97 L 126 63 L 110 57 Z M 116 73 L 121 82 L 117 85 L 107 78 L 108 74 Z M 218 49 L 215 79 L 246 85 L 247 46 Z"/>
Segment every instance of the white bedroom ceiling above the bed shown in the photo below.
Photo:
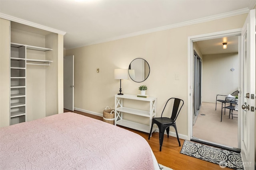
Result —
<path fill-rule="evenodd" d="M 256 0 L 0 0 L 0 17 L 66 33 L 64 48 L 71 49 L 243 14 L 255 3 Z"/>

